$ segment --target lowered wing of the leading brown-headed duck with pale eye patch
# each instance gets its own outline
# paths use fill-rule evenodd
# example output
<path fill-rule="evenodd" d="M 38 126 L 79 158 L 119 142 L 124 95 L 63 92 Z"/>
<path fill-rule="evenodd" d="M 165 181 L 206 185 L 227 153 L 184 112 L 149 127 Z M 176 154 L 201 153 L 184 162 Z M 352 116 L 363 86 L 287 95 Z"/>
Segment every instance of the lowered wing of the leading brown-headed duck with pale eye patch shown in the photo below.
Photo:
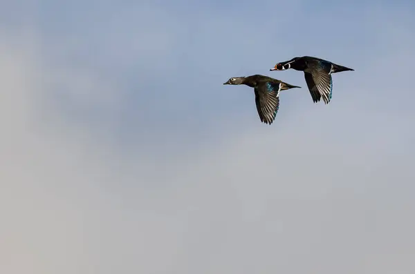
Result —
<path fill-rule="evenodd" d="M 265 124 L 273 124 L 279 109 L 279 90 L 281 83 L 263 83 L 255 88 L 255 104 L 259 119 Z"/>

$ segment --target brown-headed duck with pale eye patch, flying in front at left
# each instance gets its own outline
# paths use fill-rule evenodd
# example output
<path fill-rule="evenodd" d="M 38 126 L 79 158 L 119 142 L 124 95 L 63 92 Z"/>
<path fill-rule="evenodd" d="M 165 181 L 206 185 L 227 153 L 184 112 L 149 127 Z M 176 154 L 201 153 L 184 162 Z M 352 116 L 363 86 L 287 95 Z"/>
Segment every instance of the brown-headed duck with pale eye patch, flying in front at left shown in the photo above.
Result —
<path fill-rule="evenodd" d="M 232 77 L 224 85 L 246 85 L 254 88 L 255 104 L 262 123 L 271 125 L 279 109 L 279 92 L 290 88 L 301 88 L 264 75 Z"/>

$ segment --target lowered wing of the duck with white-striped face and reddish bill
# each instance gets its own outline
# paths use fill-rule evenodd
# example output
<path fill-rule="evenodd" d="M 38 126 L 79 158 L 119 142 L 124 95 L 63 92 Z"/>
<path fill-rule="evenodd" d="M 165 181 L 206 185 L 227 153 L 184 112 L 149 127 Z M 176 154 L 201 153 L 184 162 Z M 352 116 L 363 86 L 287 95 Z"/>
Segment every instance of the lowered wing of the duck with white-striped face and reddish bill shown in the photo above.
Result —
<path fill-rule="evenodd" d="M 324 104 L 329 104 L 333 92 L 331 75 L 325 72 L 323 68 L 315 68 L 311 72 L 304 72 L 304 77 L 313 101 L 317 103 L 322 97 Z"/>

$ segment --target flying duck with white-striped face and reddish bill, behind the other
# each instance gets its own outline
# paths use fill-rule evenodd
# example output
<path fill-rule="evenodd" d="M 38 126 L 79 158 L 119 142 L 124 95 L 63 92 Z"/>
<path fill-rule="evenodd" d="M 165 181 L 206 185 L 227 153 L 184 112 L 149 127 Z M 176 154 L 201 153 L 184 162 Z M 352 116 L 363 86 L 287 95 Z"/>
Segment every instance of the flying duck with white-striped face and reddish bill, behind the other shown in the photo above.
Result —
<path fill-rule="evenodd" d="M 331 75 L 347 70 L 354 71 L 353 68 L 347 68 L 331 61 L 311 56 L 294 57 L 291 60 L 277 63 L 270 70 L 288 70 L 290 68 L 304 72 L 308 90 L 314 103 L 323 99 L 324 104 L 329 104 L 331 101 L 333 92 Z"/>

